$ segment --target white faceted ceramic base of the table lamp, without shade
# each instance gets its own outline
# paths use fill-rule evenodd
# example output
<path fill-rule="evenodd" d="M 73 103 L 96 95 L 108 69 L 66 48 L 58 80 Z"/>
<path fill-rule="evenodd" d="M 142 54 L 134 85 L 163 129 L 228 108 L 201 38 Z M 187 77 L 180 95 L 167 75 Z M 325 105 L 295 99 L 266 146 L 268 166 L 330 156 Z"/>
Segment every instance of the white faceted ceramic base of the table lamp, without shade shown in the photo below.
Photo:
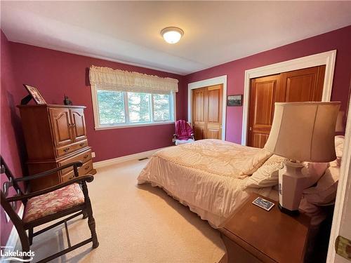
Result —
<path fill-rule="evenodd" d="M 289 215 L 296 215 L 300 206 L 307 176 L 302 173 L 302 163 L 286 161 L 279 170 L 279 208 Z M 283 209 L 284 208 L 284 209 Z"/>

